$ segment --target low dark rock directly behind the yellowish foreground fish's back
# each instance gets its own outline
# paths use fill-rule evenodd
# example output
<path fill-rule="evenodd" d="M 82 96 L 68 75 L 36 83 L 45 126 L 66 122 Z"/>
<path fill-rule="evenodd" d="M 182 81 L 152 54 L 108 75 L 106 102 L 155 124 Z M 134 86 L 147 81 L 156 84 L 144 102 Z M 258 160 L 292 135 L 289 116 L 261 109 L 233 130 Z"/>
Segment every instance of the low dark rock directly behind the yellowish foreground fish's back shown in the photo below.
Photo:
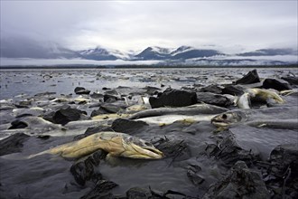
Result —
<path fill-rule="evenodd" d="M 140 131 L 142 128 L 148 127 L 149 125 L 144 121 L 135 121 L 127 118 L 116 118 L 112 124 L 112 129 L 116 132 L 122 132 L 129 135 Z"/>

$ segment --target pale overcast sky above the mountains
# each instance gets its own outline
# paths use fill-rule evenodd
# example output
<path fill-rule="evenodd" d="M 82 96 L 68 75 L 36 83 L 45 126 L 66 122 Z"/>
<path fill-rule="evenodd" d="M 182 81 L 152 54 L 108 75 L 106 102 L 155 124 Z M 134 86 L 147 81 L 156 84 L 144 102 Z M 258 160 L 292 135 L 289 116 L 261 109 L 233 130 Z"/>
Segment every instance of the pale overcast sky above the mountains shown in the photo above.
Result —
<path fill-rule="evenodd" d="M 297 48 L 297 1 L 3 1 L 1 38 L 73 50 Z"/>

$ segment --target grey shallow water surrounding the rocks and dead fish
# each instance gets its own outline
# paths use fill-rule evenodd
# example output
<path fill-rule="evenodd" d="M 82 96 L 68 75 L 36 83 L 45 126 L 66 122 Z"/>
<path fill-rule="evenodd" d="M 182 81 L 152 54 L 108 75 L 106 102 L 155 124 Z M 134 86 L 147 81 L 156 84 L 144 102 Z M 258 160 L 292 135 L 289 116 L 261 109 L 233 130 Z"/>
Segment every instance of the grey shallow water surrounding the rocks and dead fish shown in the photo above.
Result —
<path fill-rule="evenodd" d="M 7 107 L 12 103 L 23 100 L 32 100 L 32 106 L 40 106 L 44 111 L 59 107 L 58 102 L 50 100 L 61 97 L 61 94 L 70 96 L 70 99 L 79 97 L 74 94 L 78 86 L 92 92 L 104 93 L 103 88 L 116 89 L 119 94 L 138 96 L 144 93 L 145 86 L 154 86 L 161 90 L 168 87 L 181 89 L 182 87 L 205 87 L 210 84 L 225 84 L 241 78 L 252 69 L 140 69 L 140 70 L 1 70 L 1 105 L 0 110 L 0 137 L 22 131 L 23 129 L 7 130 L 17 111 Z M 258 69 L 261 78 L 285 76 L 288 73 L 298 75 L 294 69 Z M 51 77 L 50 77 L 51 76 Z M 162 85 L 164 85 L 162 87 Z M 119 88 L 120 87 L 120 88 Z M 126 88 L 130 87 L 130 88 Z M 55 92 L 44 96 L 35 96 L 42 92 Z M 83 96 L 86 97 L 86 96 Z M 13 99 L 13 100 L 7 100 Z M 297 106 L 297 97 L 284 97 L 286 104 L 282 106 Z M 89 99 L 87 104 L 73 104 L 77 109 L 88 112 L 93 109 L 90 105 L 98 103 L 98 100 Z M 12 102 L 13 101 L 13 102 Z M 119 102 L 124 103 L 124 102 Z M 5 107 L 6 106 L 6 107 Z M 264 108 L 266 109 L 266 108 Z M 18 109 L 19 110 L 19 109 Z M 22 109 L 23 111 L 23 109 Z M 262 111 L 257 111 L 256 118 L 264 118 Z M 269 118 L 275 118 L 274 112 Z M 279 113 L 281 115 L 281 113 Z M 212 137 L 216 136 L 216 129 L 210 124 L 210 118 L 214 115 L 193 116 L 190 123 L 174 122 L 175 118 L 188 118 L 186 116 L 172 116 L 155 118 L 155 123 L 146 128 L 134 132 L 134 136 L 151 141 L 161 137 L 170 140 L 181 140 L 187 144 L 183 156 L 178 158 L 166 157 L 161 160 L 144 161 L 135 159 L 118 158 L 116 163 L 101 161 L 98 171 L 104 178 L 111 180 L 119 186 L 113 189 L 114 194 L 125 194 L 134 186 L 141 186 L 153 190 L 166 192 L 173 190 L 190 196 L 201 196 L 209 186 L 216 183 L 226 174 L 227 168 L 220 165 L 220 161 L 206 156 L 205 148 L 208 143 L 216 143 Z M 293 113 L 283 113 L 282 118 L 297 118 Z M 173 120 L 175 120 L 173 119 Z M 145 118 L 143 119 L 145 120 Z M 173 121 L 171 120 L 171 121 Z M 148 122 L 149 123 L 149 122 Z M 163 123 L 163 125 L 161 125 Z M 164 124 L 165 123 L 165 124 Z M 79 121 L 69 123 L 66 130 L 59 128 L 44 131 L 43 128 L 27 129 L 31 134 L 24 142 L 21 153 L 0 156 L 0 195 L 7 198 L 79 198 L 90 191 L 90 186 L 79 186 L 70 174 L 70 166 L 73 161 L 67 161 L 61 157 L 42 155 L 32 159 L 27 156 L 39 153 L 50 147 L 55 147 L 73 140 L 73 137 L 83 134 L 88 127 L 105 126 L 108 121 Z M 264 159 L 271 150 L 279 144 L 297 143 L 297 130 L 235 127 L 231 128 L 237 138 L 237 143 L 249 150 L 258 151 Z M 49 139 L 37 138 L 36 135 L 50 134 Z M 190 165 L 201 167 L 200 176 L 204 182 L 199 185 L 191 184 L 187 177 L 187 169 Z"/>

